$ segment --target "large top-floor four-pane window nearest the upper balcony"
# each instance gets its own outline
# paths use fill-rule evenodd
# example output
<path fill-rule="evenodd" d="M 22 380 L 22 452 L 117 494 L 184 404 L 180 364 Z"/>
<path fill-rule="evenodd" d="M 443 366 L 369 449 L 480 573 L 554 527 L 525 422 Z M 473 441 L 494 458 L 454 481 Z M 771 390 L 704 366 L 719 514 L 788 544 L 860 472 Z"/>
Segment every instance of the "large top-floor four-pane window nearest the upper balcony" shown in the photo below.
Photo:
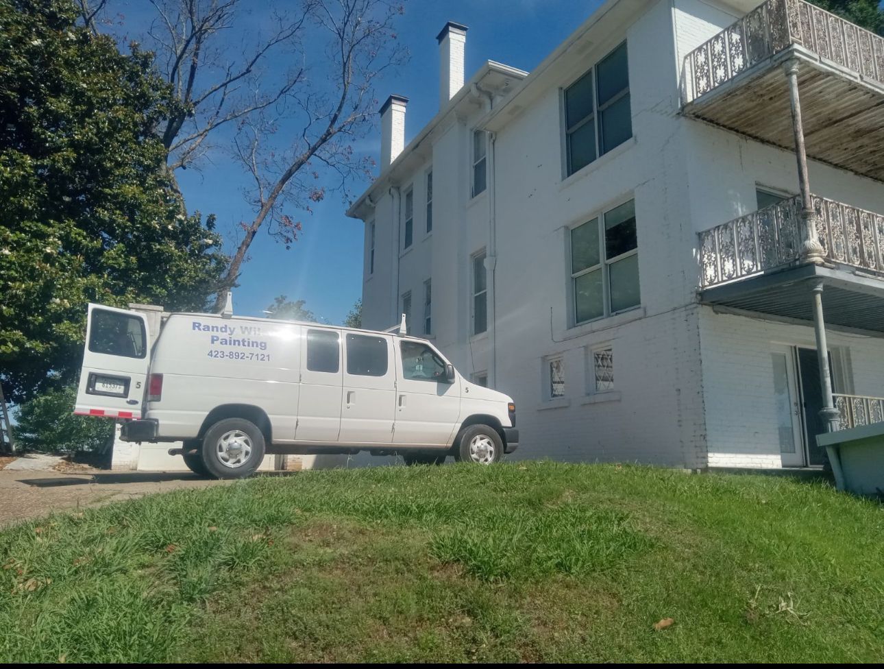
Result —
<path fill-rule="evenodd" d="M 565 89 L 568 176 L 632 137 L 626 42 Z"/>

